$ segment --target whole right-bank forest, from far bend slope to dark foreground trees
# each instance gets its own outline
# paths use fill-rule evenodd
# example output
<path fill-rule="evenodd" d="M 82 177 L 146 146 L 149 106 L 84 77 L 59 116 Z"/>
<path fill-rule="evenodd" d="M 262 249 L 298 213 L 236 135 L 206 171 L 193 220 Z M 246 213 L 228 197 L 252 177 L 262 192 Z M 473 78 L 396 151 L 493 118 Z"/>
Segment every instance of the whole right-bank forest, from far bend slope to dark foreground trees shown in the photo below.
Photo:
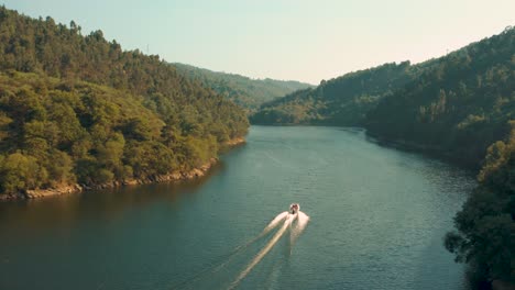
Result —
<path fill-rule="evenodd" d="M 481 168 L 446 247 L 481 277 L 515 282 L 515 29 L 418 65 L 322 81 L 263 104 L 251 122 L 364 126 Z"/>

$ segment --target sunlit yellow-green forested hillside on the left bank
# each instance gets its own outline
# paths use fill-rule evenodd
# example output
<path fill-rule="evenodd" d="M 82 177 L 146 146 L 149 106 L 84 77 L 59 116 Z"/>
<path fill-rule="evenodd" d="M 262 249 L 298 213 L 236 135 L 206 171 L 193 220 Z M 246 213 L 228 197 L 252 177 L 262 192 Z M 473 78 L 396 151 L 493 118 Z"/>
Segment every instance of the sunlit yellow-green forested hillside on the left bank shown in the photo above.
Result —
<path fill-rule="evenodd" d="M 198 167 L 243 110 L 101 31 L 0 7 L 0 194 Z"/>

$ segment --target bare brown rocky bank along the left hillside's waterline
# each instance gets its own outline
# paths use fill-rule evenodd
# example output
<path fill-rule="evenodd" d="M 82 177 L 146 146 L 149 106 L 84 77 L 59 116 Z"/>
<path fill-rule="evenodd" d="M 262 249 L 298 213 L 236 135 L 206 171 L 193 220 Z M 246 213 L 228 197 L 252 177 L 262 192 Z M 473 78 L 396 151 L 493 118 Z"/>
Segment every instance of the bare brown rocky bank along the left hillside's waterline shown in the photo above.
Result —
<path fill-rule="evenodd" d="M 242 145 L 245 143 L 244 137 L 235 137 L 232 138 L 224 144 L 222 144 L 222 150 L 230 149 L 232 147 Z M 206 176 L 206 174 L 219 161 L 218 158 L 210 158 L 208 161 L 202 164 L 197 168 L 193 168 L 189 170 L 175 170 L 167 175 L 160 175 L 153 176 L 145 179 L 125 179 L 122 181 L 112 181 L 102 185 L 59 185 L 54 188 L 47 189 L 30 189 L 25 190 L 24 192 L 19 192 L 17 194 L 0 194 L 0 201 L 13 201 L 13 200 L 28 200 L 28 199 L 37 199 L 37 198 L 47 198 L 47 197 L 56 197 L 63 194 L 70 194 L 70 193 L 79 193 L 88 190 L 98 190 L 98 189 L 109 189 L 109 188 L 118 188 L 118 187 L 125 187 L 125 186 L 138 186 L 138 185 L 147 185 L 147 183 L 161 183 L 161 182 L 179 182 L 184 180 L 190 180 L 195 178 L 200 178 Z"/>

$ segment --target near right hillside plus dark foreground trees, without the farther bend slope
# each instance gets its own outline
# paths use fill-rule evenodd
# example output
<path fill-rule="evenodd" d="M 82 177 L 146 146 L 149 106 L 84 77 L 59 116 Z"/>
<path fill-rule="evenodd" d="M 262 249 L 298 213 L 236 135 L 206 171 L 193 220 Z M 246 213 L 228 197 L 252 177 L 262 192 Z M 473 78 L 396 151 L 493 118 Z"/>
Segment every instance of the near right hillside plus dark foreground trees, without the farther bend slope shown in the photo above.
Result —
<path fill-rule="evenodd" d="M 481 166 L 446 246 L 480 276 L 515 282 L 515 29 L 437 59 L 381 100 L 366 127 Z"/>

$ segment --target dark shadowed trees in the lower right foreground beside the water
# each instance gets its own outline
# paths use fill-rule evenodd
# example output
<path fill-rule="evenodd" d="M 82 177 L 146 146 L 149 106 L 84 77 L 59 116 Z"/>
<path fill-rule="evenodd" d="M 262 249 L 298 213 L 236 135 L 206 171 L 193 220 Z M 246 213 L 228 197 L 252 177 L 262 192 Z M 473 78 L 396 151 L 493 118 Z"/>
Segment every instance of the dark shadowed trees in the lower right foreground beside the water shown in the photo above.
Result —
<path fill-rule="evenodd" d="M 489 147 L 472 192 L 454 217 L 457 232 L 445 244 L 456 260 L 473 266 L 480 279 L 515 285 L 515 122 Z"/>

